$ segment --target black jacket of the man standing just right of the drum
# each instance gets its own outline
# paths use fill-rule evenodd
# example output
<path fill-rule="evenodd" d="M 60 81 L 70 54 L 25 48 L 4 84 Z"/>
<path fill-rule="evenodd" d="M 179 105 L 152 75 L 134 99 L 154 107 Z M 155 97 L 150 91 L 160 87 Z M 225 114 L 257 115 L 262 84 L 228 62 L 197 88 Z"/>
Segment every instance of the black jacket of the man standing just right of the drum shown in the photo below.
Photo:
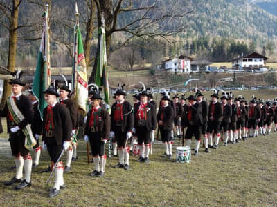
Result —
<path fill-rule="evenodd" d="M 191 110 L 192 112 L 192 120 L 188 120 L 188 111 Z M 186 107 L 186 110 L 183 113 L 181 118 L 182 126 L 201 126 L 203 124 L 203 117 L 202 117 L 202 105 L 200 103 L 195 103 L 192 106 Z"/>

